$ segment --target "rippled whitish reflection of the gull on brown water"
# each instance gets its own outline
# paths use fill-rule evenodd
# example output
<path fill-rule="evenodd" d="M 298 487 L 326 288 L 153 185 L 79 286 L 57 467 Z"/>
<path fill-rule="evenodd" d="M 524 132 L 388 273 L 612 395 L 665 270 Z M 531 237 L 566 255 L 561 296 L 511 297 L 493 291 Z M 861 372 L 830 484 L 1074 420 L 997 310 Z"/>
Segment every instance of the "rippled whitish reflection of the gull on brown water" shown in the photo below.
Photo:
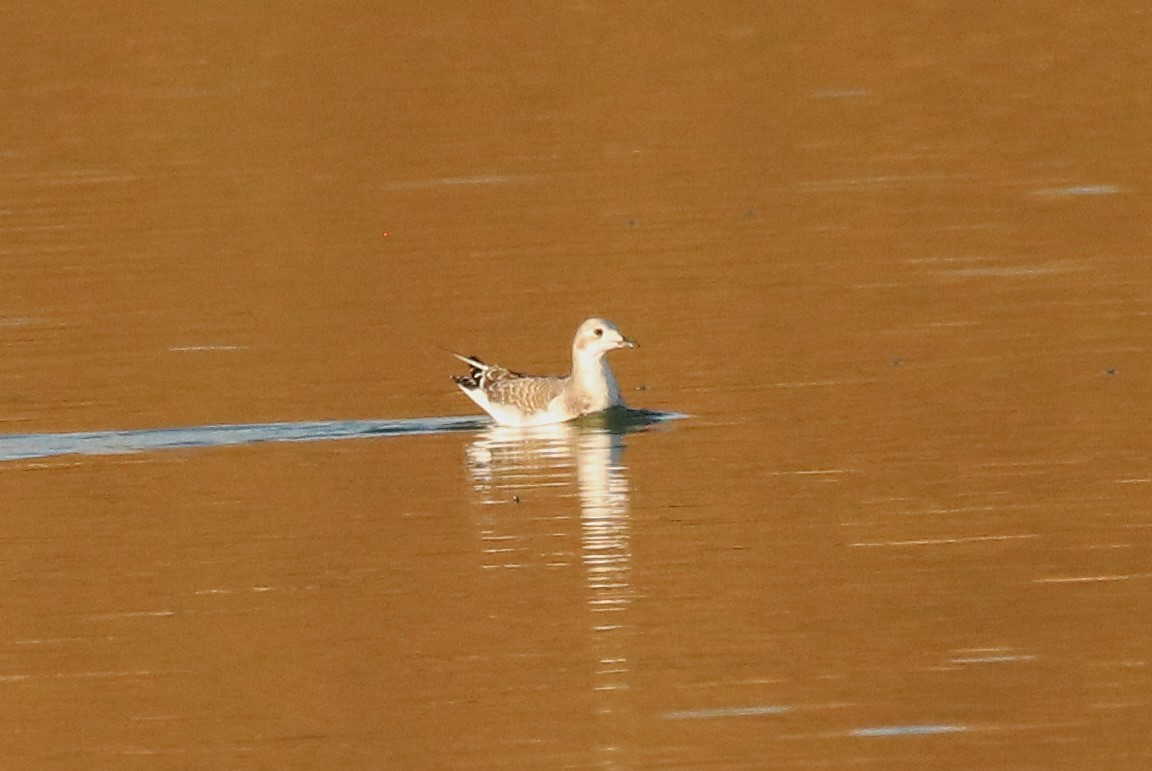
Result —
<path fill-rule="evenodd" d="M 593 701 L 605 728 L 599 749 L 607 766 L 615 765 L 614 756 L 627 743 L 619 732 L 630 723 L 619 720 L 628 709 L 624 697 L 630 673 L 628 611 L 634 596 L 629 579 L 624 439 L 670 417 L 676 416 L 630 411 L 627 419 L 585 418 L 533 429 L 492 426 L 468 447 L 468 468 L 476 493 L 482 502 L 493 505 L 482 516 L 485 567 L 525 567 L 543 560 L 547 567 L 578 561 L 583 568 L 588 650 L 597 694 Z M 579 501 L 578 560 L 570 549 L 541 550 L 539 541 L 529 532 L 533 526 L 522 515 L 525 509 L 494 506 L 526 504 L 539 497 L 541 489 L 553 489 L 552 497 L 558 493 L 561 498 L 573 497 L 574 483 L 574 497 Z M 554 527 L 553 531 L 562 529 Z"/>

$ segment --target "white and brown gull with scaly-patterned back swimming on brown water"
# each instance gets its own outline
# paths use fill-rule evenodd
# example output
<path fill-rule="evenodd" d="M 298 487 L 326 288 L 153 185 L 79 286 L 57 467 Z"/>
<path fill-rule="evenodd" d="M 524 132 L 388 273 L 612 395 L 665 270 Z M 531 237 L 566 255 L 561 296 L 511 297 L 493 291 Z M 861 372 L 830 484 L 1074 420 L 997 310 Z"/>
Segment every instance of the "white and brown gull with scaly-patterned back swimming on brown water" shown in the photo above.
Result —
<path fill-rule="evenodd" d="M 581 415 L 624 406 L 616 378 L 612 376 L 604 356 L 617 348 L 635 347 L 636 343 L 622 335 L 615 324 L 593 317 L 584 319 L 573 338 L 571 375 L 520 375 L 495 364 L 485 364 L 475 356 L 453 353 L 472 369 L 468 375 L 457 375 L 452 379 L 464 395 L 500 425 L 563 423 Z"/>

